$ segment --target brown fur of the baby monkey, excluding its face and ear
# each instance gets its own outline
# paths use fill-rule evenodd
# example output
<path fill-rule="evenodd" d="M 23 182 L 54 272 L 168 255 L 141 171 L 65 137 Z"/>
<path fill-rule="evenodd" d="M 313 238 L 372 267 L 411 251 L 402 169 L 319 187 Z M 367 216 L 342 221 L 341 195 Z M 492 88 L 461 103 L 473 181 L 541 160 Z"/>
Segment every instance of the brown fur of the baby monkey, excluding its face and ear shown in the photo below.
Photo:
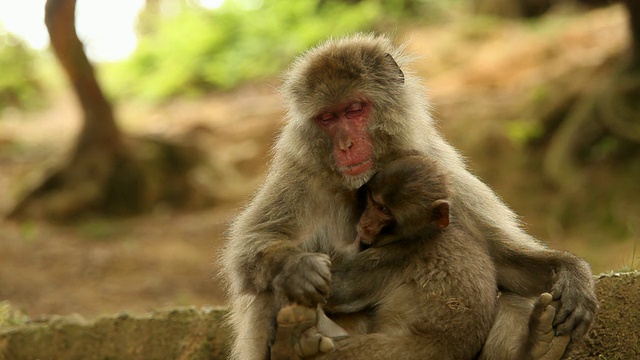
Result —
<path fill-rule="evenodd" d="M 444 181 L 432 161 L 409 156 L 365 185 L 378 202 L 367 205 L 363 218 L 378 206 L 390 218 L 370 248 L 336 259 L 325 309 L 368 313 L 366 332 L 388 339 L 351 336 L 322 358 L 471 359 L 480 352 L 497 309 L 495 267 L 485 239 L 455 215 L 449 226 L 438 226 L 441 216 L 449 221 L 433 207 L 447 205 Z M 390 346 L 389 339 L 412 345 Z"/>

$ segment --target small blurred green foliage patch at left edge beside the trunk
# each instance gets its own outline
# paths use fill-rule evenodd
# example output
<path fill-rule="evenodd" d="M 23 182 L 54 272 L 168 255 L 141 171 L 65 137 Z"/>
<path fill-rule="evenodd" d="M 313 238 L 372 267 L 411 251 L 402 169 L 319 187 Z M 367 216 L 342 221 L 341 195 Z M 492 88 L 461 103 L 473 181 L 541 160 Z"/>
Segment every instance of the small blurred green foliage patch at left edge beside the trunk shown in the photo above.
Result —
<path fill-rule="evenodd" d="M 43 105 L 35 61 L 35 53 L 24 42 L 0 28 L 0 112 Z"/>

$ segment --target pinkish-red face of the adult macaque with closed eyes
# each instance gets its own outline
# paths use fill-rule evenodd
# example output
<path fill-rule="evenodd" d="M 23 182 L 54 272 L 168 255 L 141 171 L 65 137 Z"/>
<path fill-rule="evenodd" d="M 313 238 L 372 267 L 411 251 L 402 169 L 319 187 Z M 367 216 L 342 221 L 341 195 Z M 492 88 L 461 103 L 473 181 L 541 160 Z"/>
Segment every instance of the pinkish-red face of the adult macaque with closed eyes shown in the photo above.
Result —
<path fill-rule="evenodd" d="M 333 140 L 333 157 L 343 175 L 358 176 L 373 167 L 373 142 L 367 133 L 370 114 L 370 102 L 354 99 L 315 116 L 316 123 Z"/>

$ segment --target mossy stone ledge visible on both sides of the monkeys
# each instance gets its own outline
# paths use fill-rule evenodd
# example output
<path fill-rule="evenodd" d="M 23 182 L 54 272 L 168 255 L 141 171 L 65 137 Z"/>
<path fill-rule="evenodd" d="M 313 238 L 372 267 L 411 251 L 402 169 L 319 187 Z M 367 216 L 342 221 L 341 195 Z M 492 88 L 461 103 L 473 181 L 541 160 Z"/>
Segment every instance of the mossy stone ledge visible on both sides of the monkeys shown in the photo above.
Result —
<path fill-rule="evenodd" d="M 640 359 L 640 272 L 600 275 L 600 311 L 571 359 Z M 179 308 L 85 321 L 56 317 L 0 327 L 0 360 L 225 359 L 224 308 Z"/>

